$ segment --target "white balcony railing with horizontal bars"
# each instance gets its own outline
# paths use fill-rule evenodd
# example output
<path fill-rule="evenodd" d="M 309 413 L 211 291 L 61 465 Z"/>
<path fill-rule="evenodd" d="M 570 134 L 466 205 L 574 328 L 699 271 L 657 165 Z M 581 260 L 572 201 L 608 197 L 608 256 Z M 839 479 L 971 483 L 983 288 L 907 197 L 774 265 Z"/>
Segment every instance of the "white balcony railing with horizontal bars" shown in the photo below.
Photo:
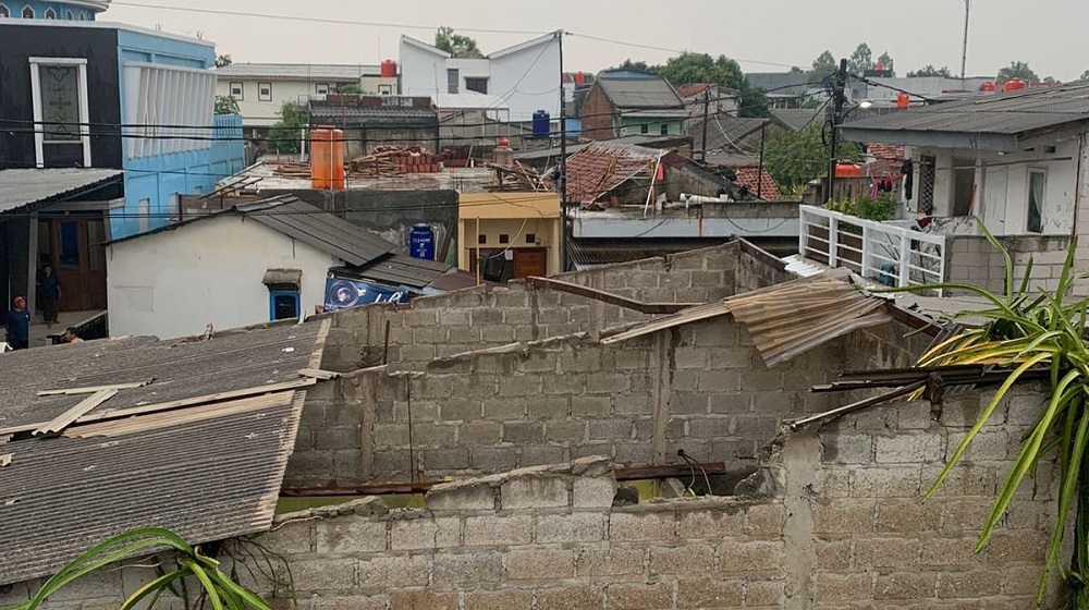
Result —
<path fill-rule="evenodd" d="M 798 253 L 815 263 L 845 267 L 886 286 L 945 281 L 942 235 L 813 206 L 798 209 L 802 220 Z"/>

